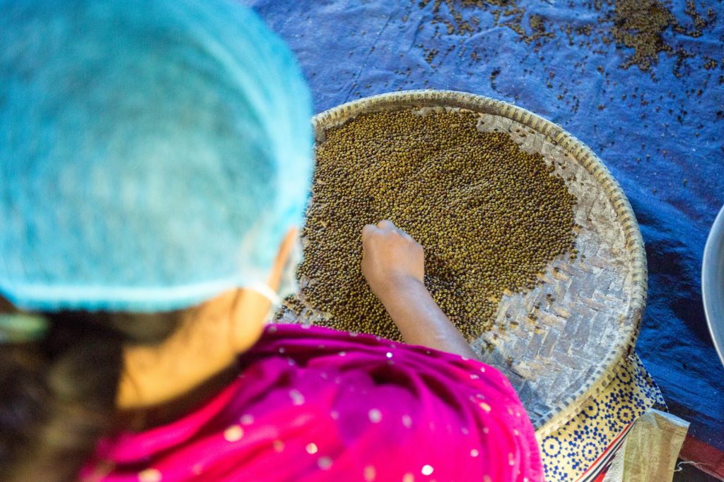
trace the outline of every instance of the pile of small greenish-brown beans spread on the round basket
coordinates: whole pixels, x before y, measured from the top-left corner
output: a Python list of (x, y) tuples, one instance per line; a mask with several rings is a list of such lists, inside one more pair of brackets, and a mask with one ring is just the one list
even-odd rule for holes
[(563, 179), (478, 121), (468, 111), (394, 111), (327, 131), (297, 273), (303, 304), (326, 314), (320, 324), (400, 340), (360, 269), (362, 228), (382, 219), (424, 246), (425, 284), (468, 340), (491, 326), (505, 291), (533, 288), (573, 249), (576, 198)]

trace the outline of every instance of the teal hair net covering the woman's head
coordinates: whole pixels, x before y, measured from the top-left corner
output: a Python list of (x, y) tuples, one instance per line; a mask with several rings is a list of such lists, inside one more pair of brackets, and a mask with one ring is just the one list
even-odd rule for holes
[(0, 291), (164, 311), (264, 282), (308, 195), (292, 54), (219, 0), (0, 0)]

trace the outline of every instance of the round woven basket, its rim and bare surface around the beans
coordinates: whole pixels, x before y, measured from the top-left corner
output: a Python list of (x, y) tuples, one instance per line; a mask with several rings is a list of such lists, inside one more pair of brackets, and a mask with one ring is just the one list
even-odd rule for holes
[(542, 438), (601, 391), (633, 350), (647, 289), (639, 226), (626, 195), (589, 147), (500, 100), (440, 90), (362, 98), (315, 116), (316, 141), (359, 114), (424, 108), (477, 113), (479, 130), (508, 132), (522, 150), (540, 152), (578, 199), (578, 258), (558, 257), (541, 273), (544, 283), (503, 296), (494, 327), (472, 344), (508, 376)]

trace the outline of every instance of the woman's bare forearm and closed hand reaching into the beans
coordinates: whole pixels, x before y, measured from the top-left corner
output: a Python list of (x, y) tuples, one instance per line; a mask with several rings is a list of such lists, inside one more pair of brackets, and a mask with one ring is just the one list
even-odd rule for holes
[(362, 273), (405, 343), (477, 358), (425, 288), (420, 244), (388, 220), (366, 225), (362, 244)]

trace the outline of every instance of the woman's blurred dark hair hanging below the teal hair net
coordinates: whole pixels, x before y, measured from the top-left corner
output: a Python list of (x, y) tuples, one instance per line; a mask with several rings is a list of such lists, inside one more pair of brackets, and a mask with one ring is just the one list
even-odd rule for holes
[(45, 314), (43, 340), (1, 345), (0, 481), (75, 480), (98, 439), (117, 428), (122, 346), (163, 340), (180, 314)]

